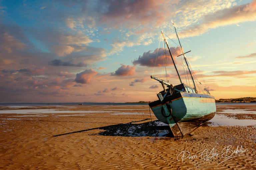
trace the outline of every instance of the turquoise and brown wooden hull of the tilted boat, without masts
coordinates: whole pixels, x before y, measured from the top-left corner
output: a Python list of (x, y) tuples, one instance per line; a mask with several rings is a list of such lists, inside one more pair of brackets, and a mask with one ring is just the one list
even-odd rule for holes
[[(149, 106), (158, 120), (169, 124), (174, 136), (190, 133), (216, 113), (214, 97), (198, 93), (179, 92), (165, 97), (163, 101), (149, 103)], [(170, 113), (166, 113), (166, 108)]]

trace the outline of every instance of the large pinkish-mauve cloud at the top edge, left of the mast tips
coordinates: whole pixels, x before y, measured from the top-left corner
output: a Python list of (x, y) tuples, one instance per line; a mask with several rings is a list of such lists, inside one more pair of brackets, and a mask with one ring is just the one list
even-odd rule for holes
[(115, 28), (121, 25), (160, 25), (174, 14), (173, 10), (167, 8), (166, 3), (168, 2), (164, 0), (107, 1), (102, 4), (106, 12), (100, 16), (100, 23), (110, 24)]

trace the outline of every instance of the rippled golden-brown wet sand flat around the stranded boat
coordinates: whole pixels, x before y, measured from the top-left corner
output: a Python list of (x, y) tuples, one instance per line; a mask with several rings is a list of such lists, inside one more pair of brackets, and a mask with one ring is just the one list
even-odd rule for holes
[(256, 105), (179, 139), (147, 105), (1, 106), (0, 125), (0, 169), (256, 169)]

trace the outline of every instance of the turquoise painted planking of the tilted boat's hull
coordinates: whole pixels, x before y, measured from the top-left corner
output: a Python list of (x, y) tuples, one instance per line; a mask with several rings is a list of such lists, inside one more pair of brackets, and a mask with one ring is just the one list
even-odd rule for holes
[[(176, 122), (188, 121), (196, 118), (201, 118), (208, 114), (216, 112), (216, 105), (214, 98), (196, 98), (196, 97), (184, 97), (185, 92), (181, 92), (182, 98), (173, 100), (170, 103), (172, 109), (172, 116)], [(190, 94), (191, 96), (192, 94)], [(167, 123), (166, 118), (162, 115), (162, 105), (151, 108), (156, 118), (164, 123)], [(168, 124), (168, 123), (167, 123)]]

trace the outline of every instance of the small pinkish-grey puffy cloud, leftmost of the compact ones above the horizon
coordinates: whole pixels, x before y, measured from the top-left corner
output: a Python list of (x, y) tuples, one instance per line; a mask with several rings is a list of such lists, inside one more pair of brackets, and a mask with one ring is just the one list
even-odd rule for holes
[(89, 84), (92, 81), (92, 78), (97, 75), (97, 71), (93, 69), (87, 69), (81, 73), (76, 74), (75, 82), (81, 84)]

